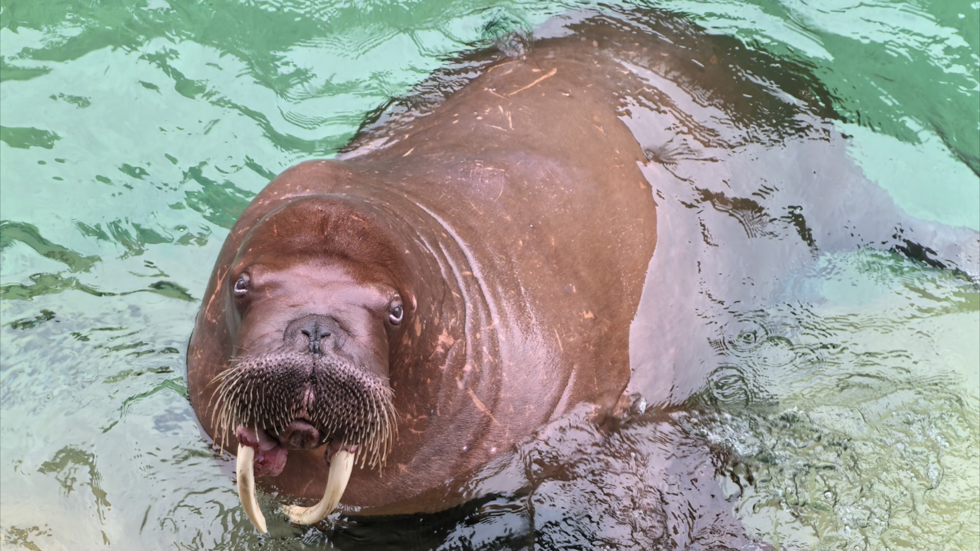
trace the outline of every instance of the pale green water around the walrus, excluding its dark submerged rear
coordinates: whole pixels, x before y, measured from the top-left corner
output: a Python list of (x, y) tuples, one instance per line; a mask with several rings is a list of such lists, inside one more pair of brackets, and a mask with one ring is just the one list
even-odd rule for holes
[[(914, 218), (980, 229), (980, 4), (652, 5), (805, 68), (864, 175)], [(357, 520), (253, 532), (185, 397), (198, 301), (272, 176), (335, 154), (495, 32), (583, 6), (0, 0), (0, 545), (382, 546), (366, 534), (391, 526)], [(975, 263), (822, 253), (728, 313), (729, 344), (704, 346), (724, 366), (692, 398), (708, 413), (677, 423), (746, 459), (719, 479), (752, 479), (736, 515), (754, 534), (785, 549), (980, 545)], [(527, 507), (504, 496), (383, 545), (596, 541), (537, 524), (540, 505), (527, 525)], [(508, 539), (520, 530), (530, 539)]]

